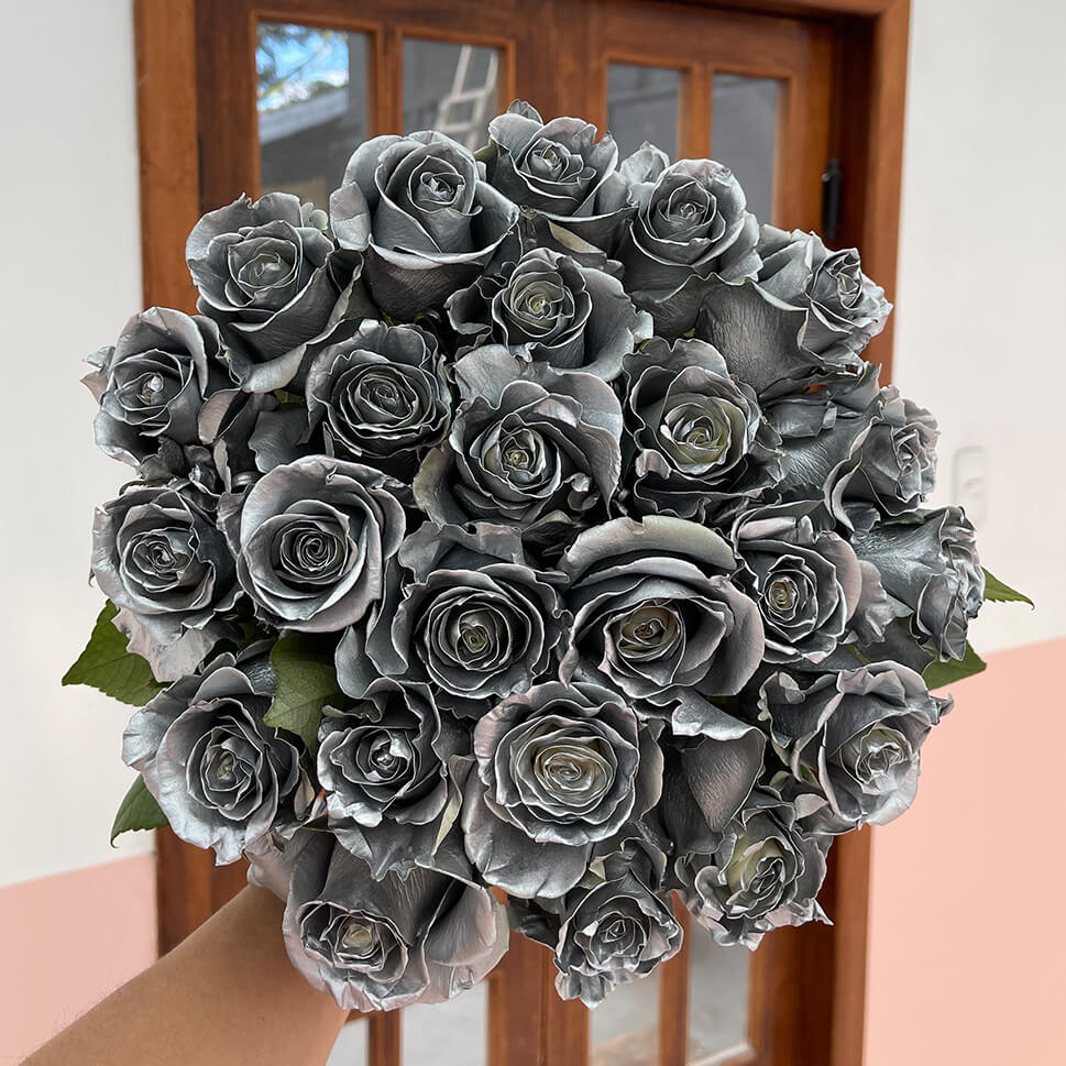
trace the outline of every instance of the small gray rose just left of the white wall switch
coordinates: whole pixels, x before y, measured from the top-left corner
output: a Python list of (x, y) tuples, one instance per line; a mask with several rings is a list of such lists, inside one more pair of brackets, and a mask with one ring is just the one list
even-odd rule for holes
[(900, 396), (894, 385), (881, 389), (880, 413), (844, 491), (853, 523), (870, 526), (878, 512), (895, 517), (925, 501), (936, 480), (938, 436), (927, 410)]

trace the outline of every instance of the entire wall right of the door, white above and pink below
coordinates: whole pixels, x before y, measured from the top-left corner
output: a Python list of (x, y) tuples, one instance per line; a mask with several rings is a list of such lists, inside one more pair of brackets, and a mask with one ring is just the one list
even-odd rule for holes
[(1052, 899), (1066, 870), (1066, 4), (912, 2), (895, 376), (941, 420), (939, 499), (985, 449), (981, 556), (1037, 609), (986, 606), (974, 644), (999, 653), (873, 829), (864, 1062), (1036, 1066), (1066, 1041), (1062, 908), (1021, 903), (1030, 864)]

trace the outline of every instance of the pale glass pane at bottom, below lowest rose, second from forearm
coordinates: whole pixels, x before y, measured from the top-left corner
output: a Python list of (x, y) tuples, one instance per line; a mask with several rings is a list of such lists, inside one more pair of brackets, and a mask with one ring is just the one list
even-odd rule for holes
[(488, 985), (482, 981), (444, 1003), (403, 1013), (404, 1066), (485, 1066), (488, 1059)]

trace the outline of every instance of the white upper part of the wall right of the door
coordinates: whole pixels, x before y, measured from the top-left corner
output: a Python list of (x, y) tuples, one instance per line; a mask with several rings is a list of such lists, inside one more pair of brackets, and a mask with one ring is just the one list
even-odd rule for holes
[(981, 559), (1037, 603), (987, 606), (982, 651), (1066, 635), (1064, 44), (1062, 0), (912, 3), (894, 378), (939, 419), (937, 502), (983, 449)]

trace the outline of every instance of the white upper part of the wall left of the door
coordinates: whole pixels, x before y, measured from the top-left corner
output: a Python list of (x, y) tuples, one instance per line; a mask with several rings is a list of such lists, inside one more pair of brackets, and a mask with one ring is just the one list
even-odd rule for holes
[(2, 886), (117, 857), (129, 708), (59, 678), (102, 604), (92, 508), (128, 480), (92, 447), (80, 359), (140, 308), (141, 257), (131, 0), (0, 7)]

